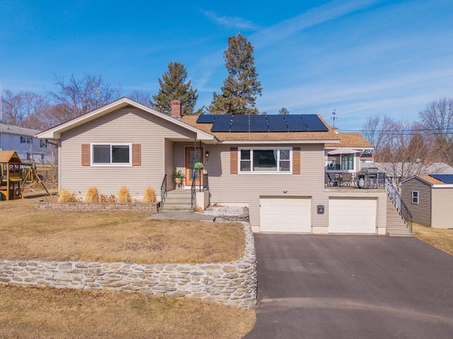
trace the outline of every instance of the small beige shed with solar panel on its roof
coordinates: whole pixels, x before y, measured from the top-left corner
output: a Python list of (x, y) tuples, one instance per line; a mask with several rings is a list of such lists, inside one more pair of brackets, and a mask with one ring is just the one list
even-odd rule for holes
[(401, 182), (401, 197), (413, 222), (453, 228), (453, 174), (419, 174)]

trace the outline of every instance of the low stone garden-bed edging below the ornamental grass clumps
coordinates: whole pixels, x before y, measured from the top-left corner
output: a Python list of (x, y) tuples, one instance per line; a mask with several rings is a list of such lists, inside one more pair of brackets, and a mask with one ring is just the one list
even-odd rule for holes
[(35, 202), (38, 210), (139, 210), (157, 213), (157, 203), (52, 203)]

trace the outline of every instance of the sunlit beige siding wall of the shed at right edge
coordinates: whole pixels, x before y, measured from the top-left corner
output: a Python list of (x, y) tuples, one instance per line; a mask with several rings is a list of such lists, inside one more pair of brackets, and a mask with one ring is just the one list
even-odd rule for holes
[(431, 226), (453, 228), (453, 189), (432, 188)]

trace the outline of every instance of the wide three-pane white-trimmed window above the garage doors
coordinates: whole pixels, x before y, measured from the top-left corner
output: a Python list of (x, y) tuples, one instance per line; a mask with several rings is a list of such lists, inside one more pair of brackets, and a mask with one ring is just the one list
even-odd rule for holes
[(291, 173), (291, 148), (239, 148), (239, 173)]

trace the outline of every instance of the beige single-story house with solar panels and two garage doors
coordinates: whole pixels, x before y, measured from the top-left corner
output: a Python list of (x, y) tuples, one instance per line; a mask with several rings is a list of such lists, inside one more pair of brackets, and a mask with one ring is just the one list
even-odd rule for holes
[(59, 187), (79, 196), (90, 186), (159, 195), (164, 181), (175, 189), (176, 169), (190, 189), (202, 162), (210, 202), (248, 206), (256, 232), (386, 232), (384, 190), (326, 188), (325, 145), (340, 138), (315, 114), (181, 117), (177, 100), (166, 115), (122, 97), (38, 137), (59, 144)]

